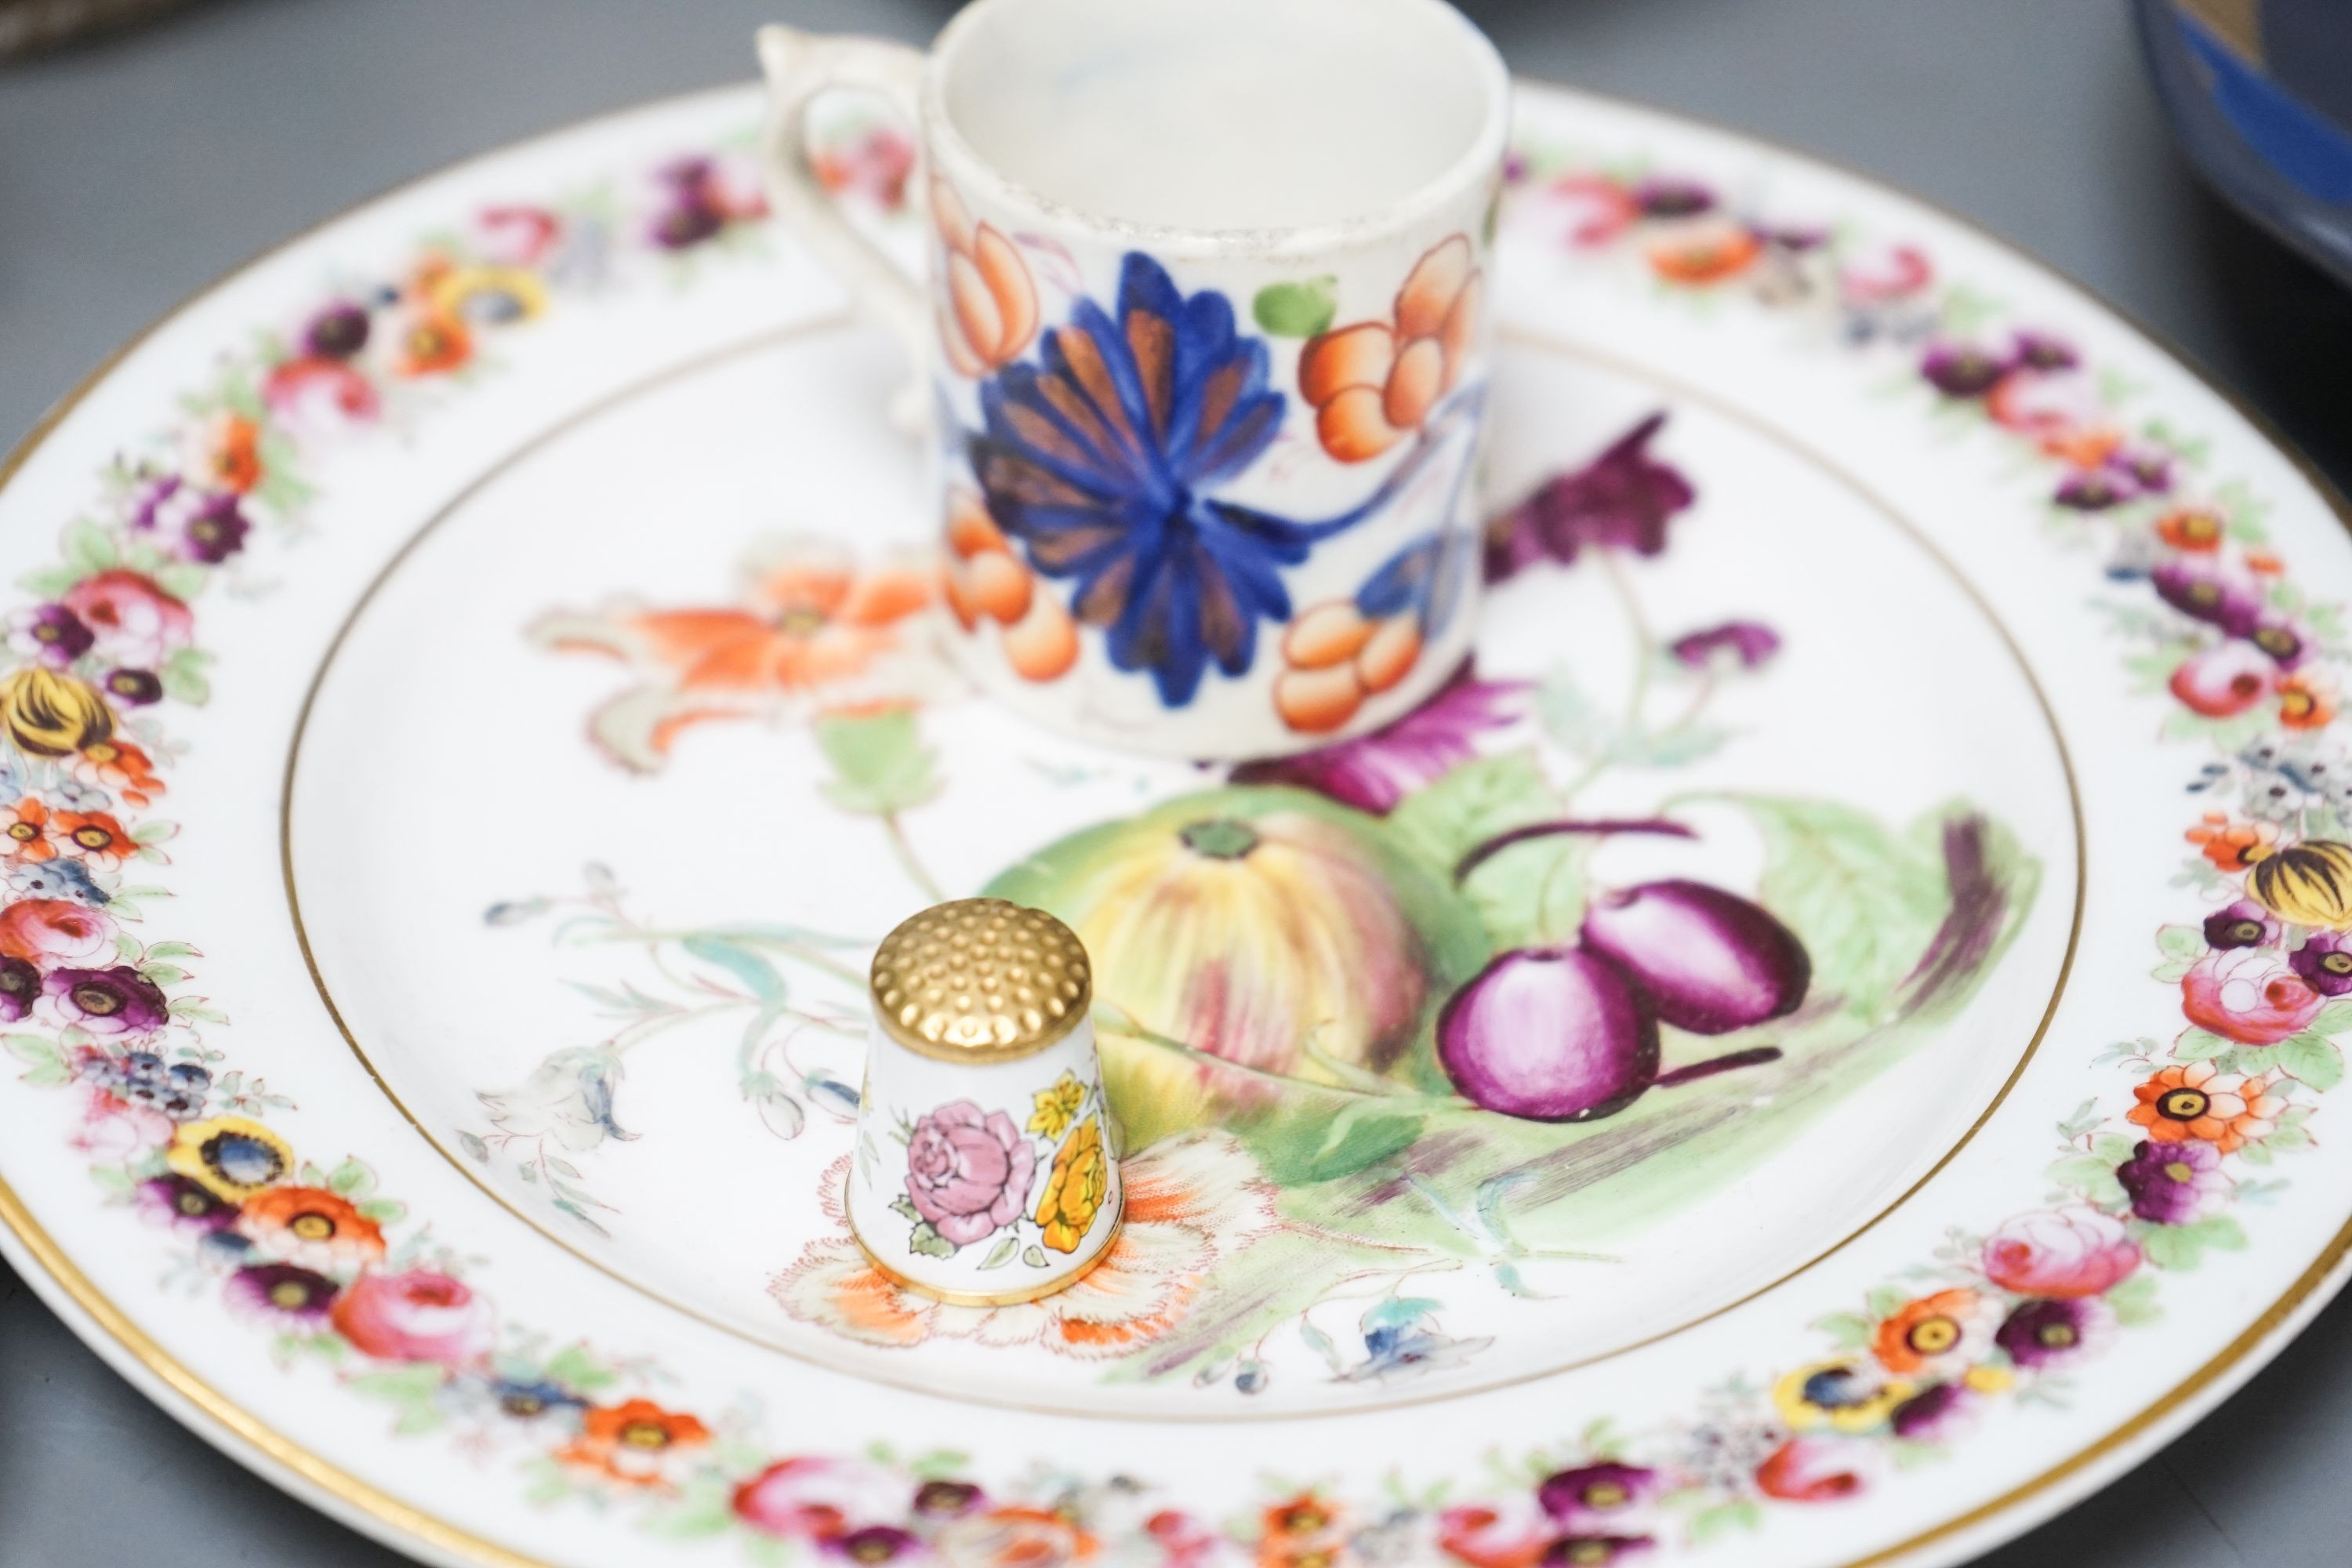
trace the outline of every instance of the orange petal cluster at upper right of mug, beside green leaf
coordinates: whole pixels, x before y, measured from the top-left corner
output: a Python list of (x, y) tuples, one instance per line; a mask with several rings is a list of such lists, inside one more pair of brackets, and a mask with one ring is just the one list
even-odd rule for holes
[(1484, 282), (1465, 235), (1432, 244), (1397, 289), (1392, 317), (1308, 339), (1298, 395), (1341, 463), (1376, 458), (1421, 428), (1477, 346)]

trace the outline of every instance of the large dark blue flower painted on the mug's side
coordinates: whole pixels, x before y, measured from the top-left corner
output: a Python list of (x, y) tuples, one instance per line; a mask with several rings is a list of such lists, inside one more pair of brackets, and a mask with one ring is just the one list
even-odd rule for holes
[(1183, 708), (1211, 658), (1242, 675), (1258, 623), (1289, 618), (1279, 567), (1364, 512), (1308, 524), (1214, 498), (1275, 440), (1284, 400), (1225, 296), (1185, 296), (1150, 256), (1122, 263), (1115, 315), (1077, 301), (1037, 355), (981, 386), (969, 451), (988, 512), (1073, 583), (1110, 663)]

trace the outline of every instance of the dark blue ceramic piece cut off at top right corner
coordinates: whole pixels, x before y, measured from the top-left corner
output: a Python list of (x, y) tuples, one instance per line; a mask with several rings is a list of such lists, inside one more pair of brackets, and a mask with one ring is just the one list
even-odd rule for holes
[(2352, 2), (2140, 0), (2140, 40), (2199, 172), (2352, 282)]

